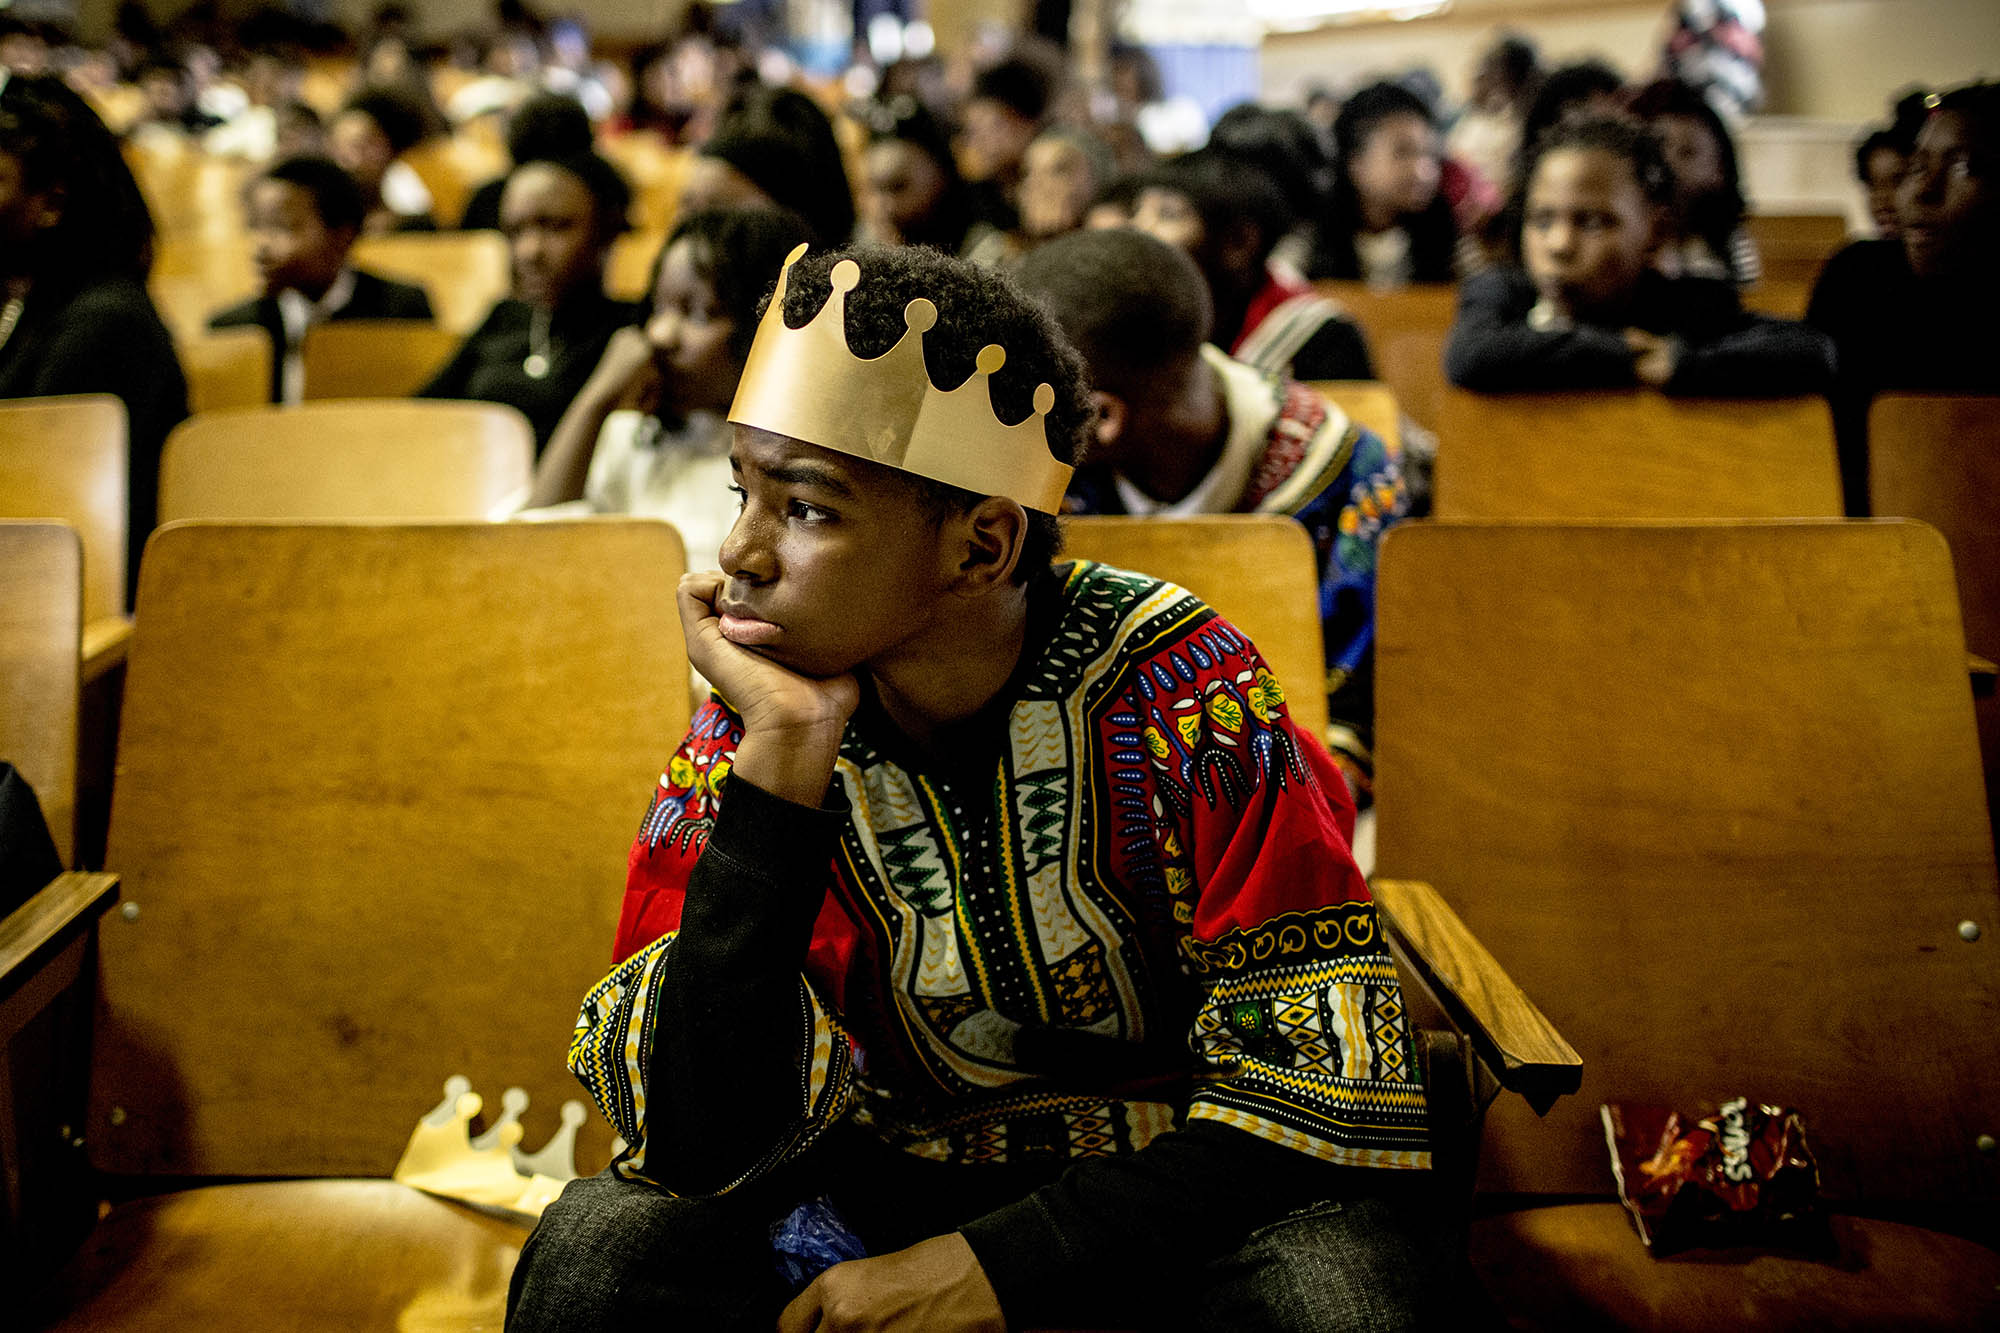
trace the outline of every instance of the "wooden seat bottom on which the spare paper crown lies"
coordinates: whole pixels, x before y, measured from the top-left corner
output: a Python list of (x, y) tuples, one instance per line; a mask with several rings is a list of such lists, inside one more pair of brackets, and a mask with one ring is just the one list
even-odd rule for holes
[(500, 1329), (528, 1229), (394, 1181), (124, 1203), (56, 1277), (50, 1329)]

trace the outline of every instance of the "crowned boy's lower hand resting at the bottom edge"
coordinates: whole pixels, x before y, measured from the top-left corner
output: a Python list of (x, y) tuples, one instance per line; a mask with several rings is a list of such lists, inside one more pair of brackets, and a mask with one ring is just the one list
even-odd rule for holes
[(836, 1263), (778, 1315), (778, 1333), (1006, 1333), (1000, 1297), (952, 1231)]

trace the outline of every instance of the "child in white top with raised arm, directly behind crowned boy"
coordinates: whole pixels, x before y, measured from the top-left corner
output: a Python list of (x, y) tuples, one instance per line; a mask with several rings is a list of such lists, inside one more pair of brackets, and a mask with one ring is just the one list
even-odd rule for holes
[(712, 208), (674, 224), (646, 322), (604, 346), (534, 468), (528, 504), (666, 518), (688, 568), (714, 568), (736, 522), (722, 414), (764, 288), (806, 240), (806, 222), (778, 208)]

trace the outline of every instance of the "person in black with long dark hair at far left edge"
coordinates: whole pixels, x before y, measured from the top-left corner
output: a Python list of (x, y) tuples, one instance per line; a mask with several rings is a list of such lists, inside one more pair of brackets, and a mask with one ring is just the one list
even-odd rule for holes
[(160, 446), (188, 416), (174, 340), (146, 294), (152, 240), (96, 112), (56, 76), (0, 84), (0, 398), (124, 402), (128, 596), (158, 512)]

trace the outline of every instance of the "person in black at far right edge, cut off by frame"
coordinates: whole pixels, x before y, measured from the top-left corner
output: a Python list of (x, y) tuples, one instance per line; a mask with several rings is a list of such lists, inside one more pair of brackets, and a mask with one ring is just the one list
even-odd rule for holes
[(1868, 402), (2000, 394), (2000, 84), (1938, 96), (1896, 190), (1900, 236), (1826, 260), (1806, 320), (1840, 348), (1834, 430), (1848, 512), (1868, 512)]

